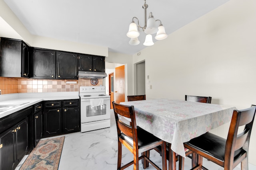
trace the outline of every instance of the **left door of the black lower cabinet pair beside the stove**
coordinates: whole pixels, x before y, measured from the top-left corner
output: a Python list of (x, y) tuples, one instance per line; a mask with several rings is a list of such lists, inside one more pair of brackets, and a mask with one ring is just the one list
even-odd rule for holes
[(50, 137), (62, 133), (61, 108), (45, 109), (43, 136)]

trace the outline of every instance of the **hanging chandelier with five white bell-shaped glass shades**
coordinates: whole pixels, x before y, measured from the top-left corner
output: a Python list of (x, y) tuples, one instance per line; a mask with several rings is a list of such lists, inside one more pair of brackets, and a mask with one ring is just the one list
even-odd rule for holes
[[(148, 17), (148, 23), (147, 23), (147, 8), (148, 4), (146, 4), (146, 0), (144, 0), (145, 3), (142, 6), (144, 9), (144, 26), (140, 26), (139, 20), (137, 17), (132, 18), (132, 23), (129, 25), (129, 31), (126, 34), (127, 37), (131, 38), (129, 41), (130, 45), (138, 45), (140, 43), (138, 36), (140, 35), (139, 31), (144, 31), (146, 33), (146, 39), (143, 45), (150, 46), (154, 45), (154, 42), (152, 40), (152, 34), (156, 33), (155, 39), (156, 40), (162, 40), (165, 39), (168, 35), (165, 33), (164, 26), (162, 25), (162, 22), (160, 20), (155, 20), (154, 16), (152, 15), (152, 12), (150, 12)], [(137, 20), (138, 23), (134, 22), (134, 19)], [(158, 26), (158, 23), (160, 25)]]

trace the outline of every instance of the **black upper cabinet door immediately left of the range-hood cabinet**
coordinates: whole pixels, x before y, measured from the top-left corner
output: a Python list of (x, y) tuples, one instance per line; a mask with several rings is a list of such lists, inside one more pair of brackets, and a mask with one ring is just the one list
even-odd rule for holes
[(78, 79), (78, 55), (75, 53), (56, 52), (57, 79)]

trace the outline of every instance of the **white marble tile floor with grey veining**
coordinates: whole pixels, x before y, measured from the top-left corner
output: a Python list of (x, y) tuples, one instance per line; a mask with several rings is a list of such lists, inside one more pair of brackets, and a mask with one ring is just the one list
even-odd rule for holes
[[(26, 157), (27, 156), (22, 159), (21, 163), (15, 170), (20, 168)], [(162, 159), (158, 152), (155, 150), (150, 151), (150, 158), (159, 167), (162, 167)], [(122, 162), (127, 163), (132, 159), (132, 153), (123, 147)], [(58, 168), (59, 170), (116, 170), (116, 164), (117, 136), (113, 110), (111, 110), (111, 126), (109, 128), (65, 135), (64, 146)], [(222, 167), (208, 160), (204, 160), (204, 166), (208, 167), (209, 170), (223, 170)], [(189, 170), (190, 168), (191, 160), (190, 158), (186, 158), (184, 169)], [(126, 168), (126, 170), (132, 169), (133, 166)], [(143, 170), (141, 161), (140, 170)], [(155, 168), (150, 165), (147, 170), (155, 170)], [(235, 168), (234, 170), (240, 169)]]

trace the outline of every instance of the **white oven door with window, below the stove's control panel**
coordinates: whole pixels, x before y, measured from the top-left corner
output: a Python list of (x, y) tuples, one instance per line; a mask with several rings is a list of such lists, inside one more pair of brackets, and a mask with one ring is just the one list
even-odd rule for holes
[(91, 99), (81, 99), (81, 123), (105, 119), (110, 119), (110, 98), (103, 98), (100, 106), (91, 106)]

